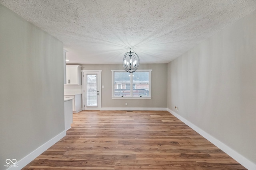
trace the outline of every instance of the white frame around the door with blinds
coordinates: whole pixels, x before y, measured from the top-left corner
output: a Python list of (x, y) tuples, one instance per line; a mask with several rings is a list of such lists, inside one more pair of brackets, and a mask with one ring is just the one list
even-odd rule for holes
[[(97, 87), (97, 90), (99, 91), (99, 101), (98, 102), (98, 109), (100, 110), (102, 107), (101, 107), (101, 72), (102, 70), (82, 70), (82, 109), (85, 110), (85, 102), (84, 101), (84, 73), (90, 73), (90, 72), (97, 72), (98, 75), (99, 75), (99, 82), (98, 82), (98, 87)], [(94, 110), (94, 107), (92, 107), (92, 110)]]

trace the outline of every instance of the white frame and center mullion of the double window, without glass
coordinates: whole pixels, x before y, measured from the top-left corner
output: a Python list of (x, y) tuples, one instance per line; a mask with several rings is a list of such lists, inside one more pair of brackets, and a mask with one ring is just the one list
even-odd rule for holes
[[(151, 99), (151, 72), (152, 70), (136, 70), (136, 72), (148, 72), (149, 73), (149, 88), (148, 88), (148, 96), (129, 96), (129, 97), (125, 97), (125, 96), (114, 96), (114, 72), (126, 72), (125, 70), (111, 70), (112, 72), (112, 99)], [(132, 87), (132, 73), (131, 74), (131, 79), (130, 79), (130, 87)], [(132, 92), (132, 89), (130, 89)]]

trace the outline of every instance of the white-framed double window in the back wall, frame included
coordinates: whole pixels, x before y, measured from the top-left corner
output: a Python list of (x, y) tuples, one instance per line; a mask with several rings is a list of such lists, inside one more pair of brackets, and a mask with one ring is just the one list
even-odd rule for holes
[(151, 71), (112, 71), (112, 98), (151, 98)]

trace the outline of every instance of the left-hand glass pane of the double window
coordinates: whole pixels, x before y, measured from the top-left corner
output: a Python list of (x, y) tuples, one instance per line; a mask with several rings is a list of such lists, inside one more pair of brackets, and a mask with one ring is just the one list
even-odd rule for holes
[(130, 84), (130, 73), (114, 72), (114, 96), (131, 96)]

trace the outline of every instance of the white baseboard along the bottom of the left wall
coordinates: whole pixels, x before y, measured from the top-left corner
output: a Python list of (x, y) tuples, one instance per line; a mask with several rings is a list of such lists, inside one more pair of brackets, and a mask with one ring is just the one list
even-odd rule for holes
[(27, 156), (25, 156), (24, 158), (19, 160), (15, 164), (16, 166), (18, 165), (18, 167), (12, 166), (12, 167), (8, 168), (7, 170), (20, 170), (20, 169), (24, 168), (27, 164), (29, 164), (32, 160), (34, 160), (37, 156), (42, 154), (42, 152), (44, 152), (45, 150), (50, 148), (52, 145), (54, 145), (56, 142), (58, 142), (64, 136), (66, 136), (66, 131), (59, 133), (58, 135), (56, 135), (55, 137), (53, 137), (52, 139), (50, 139), (49, 141), (47, 141), (46, 143), (41, 145), (38, 149), (34, 150), (30, 154), (28, 154)]

